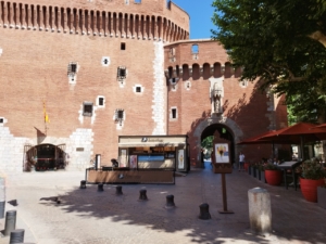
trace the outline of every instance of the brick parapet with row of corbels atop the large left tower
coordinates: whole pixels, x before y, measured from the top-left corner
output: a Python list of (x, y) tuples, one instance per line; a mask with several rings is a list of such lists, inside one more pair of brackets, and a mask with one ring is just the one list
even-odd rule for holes
[(148, 9), (148, 1), (137, 4), (127, 4), (123, 0), (98, 0), (87, 4), (82, 1), (55, 1), (57, 5), (48, 5), (45, 0), (34, 1), (34, 4), (2, 1), (0, 26), (167, 42), (187, 39), (187, 13), (180, 9), (161, 8), (162, 2), (163, 0), (158, 4), (152, 3), (151, 11)]

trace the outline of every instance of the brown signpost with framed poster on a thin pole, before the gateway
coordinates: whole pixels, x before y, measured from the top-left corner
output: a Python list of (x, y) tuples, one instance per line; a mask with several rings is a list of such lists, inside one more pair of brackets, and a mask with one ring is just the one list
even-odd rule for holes
[(230, 143), (228, 140), (220, 137), (218, 131), (214, 133), (213, 140), (213, 168), (215, 174), (222, 175), (222, 194), (223, 194), (223, 210), (220, 214), (234, 214), (234, 211), (227, 209), (226, 200), (226, 183), (225, 174), (233, 172), (233, 165), (229, 155)]

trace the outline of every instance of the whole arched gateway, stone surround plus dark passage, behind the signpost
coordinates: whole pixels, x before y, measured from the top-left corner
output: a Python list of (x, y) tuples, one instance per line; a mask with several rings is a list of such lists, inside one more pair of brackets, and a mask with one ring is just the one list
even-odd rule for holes
[[(196, 149), (190, 152), (190, 157), (196, 158), (196, 166), (202, 167), (201, 164), (201, 141), (209, 136), (213, 136), (215, 131), (218, 131), (222, 138), (230, 141), (230, 158), (235, 163), (237, 160), (236, 144), (240, 141), (239, 138), (243, 136), (239, 126), (230, 118), (213, 115), (212, 117), (202, 120), (193, 131), (193, 141), (196, 142)], [(193, 164), (193, 162), (191, 162)]]

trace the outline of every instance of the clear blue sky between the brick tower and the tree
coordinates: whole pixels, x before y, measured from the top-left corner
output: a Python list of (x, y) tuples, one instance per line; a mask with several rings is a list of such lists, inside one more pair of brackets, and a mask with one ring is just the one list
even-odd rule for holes
[(190, 15), (190, 38), (211, 38), (211, 29), (216, 29), (211, 17), (213, 0), (172, 0)]

